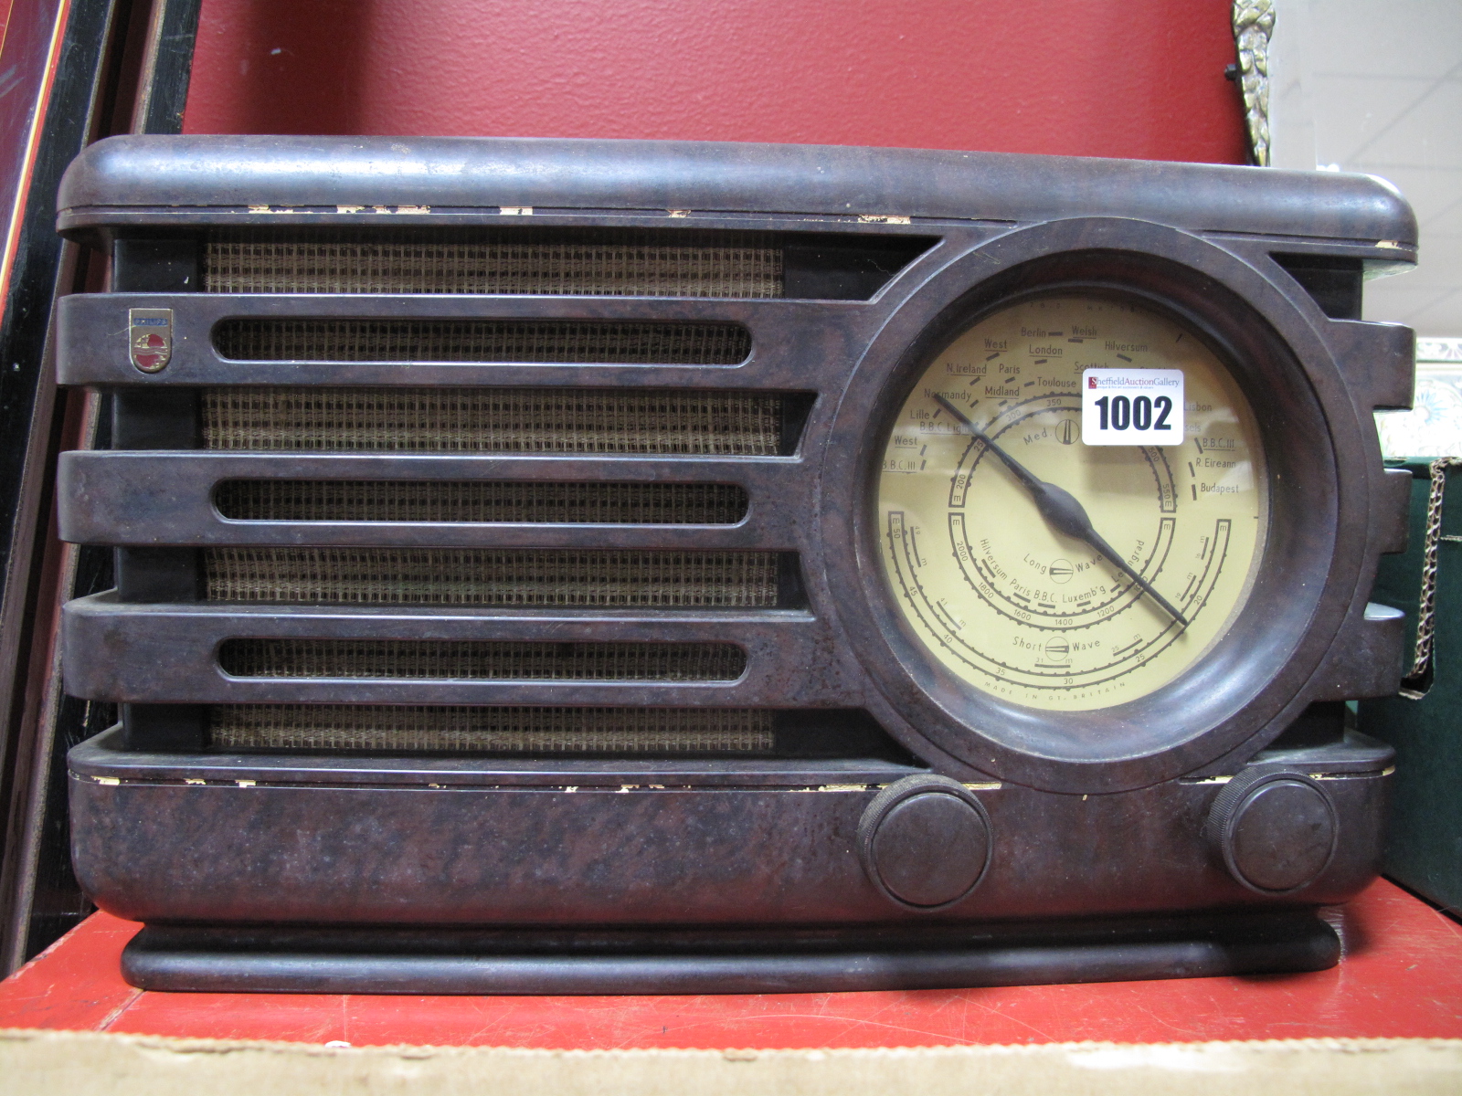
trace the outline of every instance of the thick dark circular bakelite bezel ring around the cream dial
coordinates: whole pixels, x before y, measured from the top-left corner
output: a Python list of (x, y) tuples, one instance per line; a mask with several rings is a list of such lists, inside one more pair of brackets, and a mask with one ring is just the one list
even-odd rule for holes
[[(1107, 243), (1110, 241), (1110, 243)], [(1107, 246), (1102, 246), (1107, 243)], [(1244, 608), (1174, 681), (1137, 700), (1048, 712), (971, 688), (933, 659), (893, 604), (877, 522), (880, 460), (893, 416), (933, 358), (982, 316), (1026, 295), (1113, 294), (1202, 338), (1259, 422), (1270, 525)], [(1347, 419), (1344, 414), (1349, 412)], [(1120, 791), (1193, 772), (1282, 726), (1351, 605), (1364, 538), (1338, 538), (1368, 509), (1344, 380), (1310, 320), (1272, 281), (1178, 229), (1082, 218), (1020, 229), (950, 262), (889, 317), (839, 403), (823, 472), (826, 582), (879, 688), (874, 715), (918, 753), (1048, 791)], [(1357, 475), (1358, 472), (1358, 475)], [(1360, 479), (1360, 482), (1357, 482)], [(1358, 542), (1357, 542), (1358, 541)], [(845, 601), (844, 601), (845, 599)], [(1276, 731), (1275, 731), (1276, 734)]]

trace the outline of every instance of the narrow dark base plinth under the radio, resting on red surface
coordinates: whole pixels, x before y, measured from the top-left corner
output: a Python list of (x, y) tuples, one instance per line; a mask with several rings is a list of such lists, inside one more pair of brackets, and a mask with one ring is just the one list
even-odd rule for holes
[(149, 925), (123, 975), (174, 992), (788, 994), (1291, 973), (1339, 956), (1303, 910), (781, 934)]

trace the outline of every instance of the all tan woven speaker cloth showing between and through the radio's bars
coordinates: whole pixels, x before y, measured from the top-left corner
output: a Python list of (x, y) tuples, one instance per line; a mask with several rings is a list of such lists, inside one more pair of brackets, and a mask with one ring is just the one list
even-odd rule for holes
[[(216, 229), (202, 288), (215, 294), (532, 294), (769, 298), (784, 294), (775, 237), (608, 229)], [(230, 319), (235, 361), (735, 365), (731, 323), (601, 320)], [(636, 389), (287, 389), (202, 393), (212, 450), (642, 453), (775, 456), (775, 395)], [(235, 520), (730, 525), (728, 484), (232, 481)], [(778, 604), (776, 552), (611, 549), (203, 549), (224, 602), (754, 608)], [(238, 677), (734, 681), (730, 643), (231, 640)], [(209, 709), (215, 748), (528, 754), (768, 753), (753, 709), (234, 704)]]

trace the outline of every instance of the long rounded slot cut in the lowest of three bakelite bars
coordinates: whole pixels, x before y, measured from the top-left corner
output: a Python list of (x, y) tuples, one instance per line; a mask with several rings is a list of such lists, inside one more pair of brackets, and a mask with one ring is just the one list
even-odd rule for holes
[(218, 653), (241, 678), (427, 681), (735, 681), (731, 643), (516, 643), (493, 640), (228, 640)]

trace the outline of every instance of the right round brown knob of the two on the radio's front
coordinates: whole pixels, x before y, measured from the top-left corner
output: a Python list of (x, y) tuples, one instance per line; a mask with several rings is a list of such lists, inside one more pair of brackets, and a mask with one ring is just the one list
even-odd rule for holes
[(1230, 874), (1260, 894), (1314, 883), (1335, 856), (1335, 805), (1301, 773), (1235, 776), (1213, 799), (1205, 833)]

